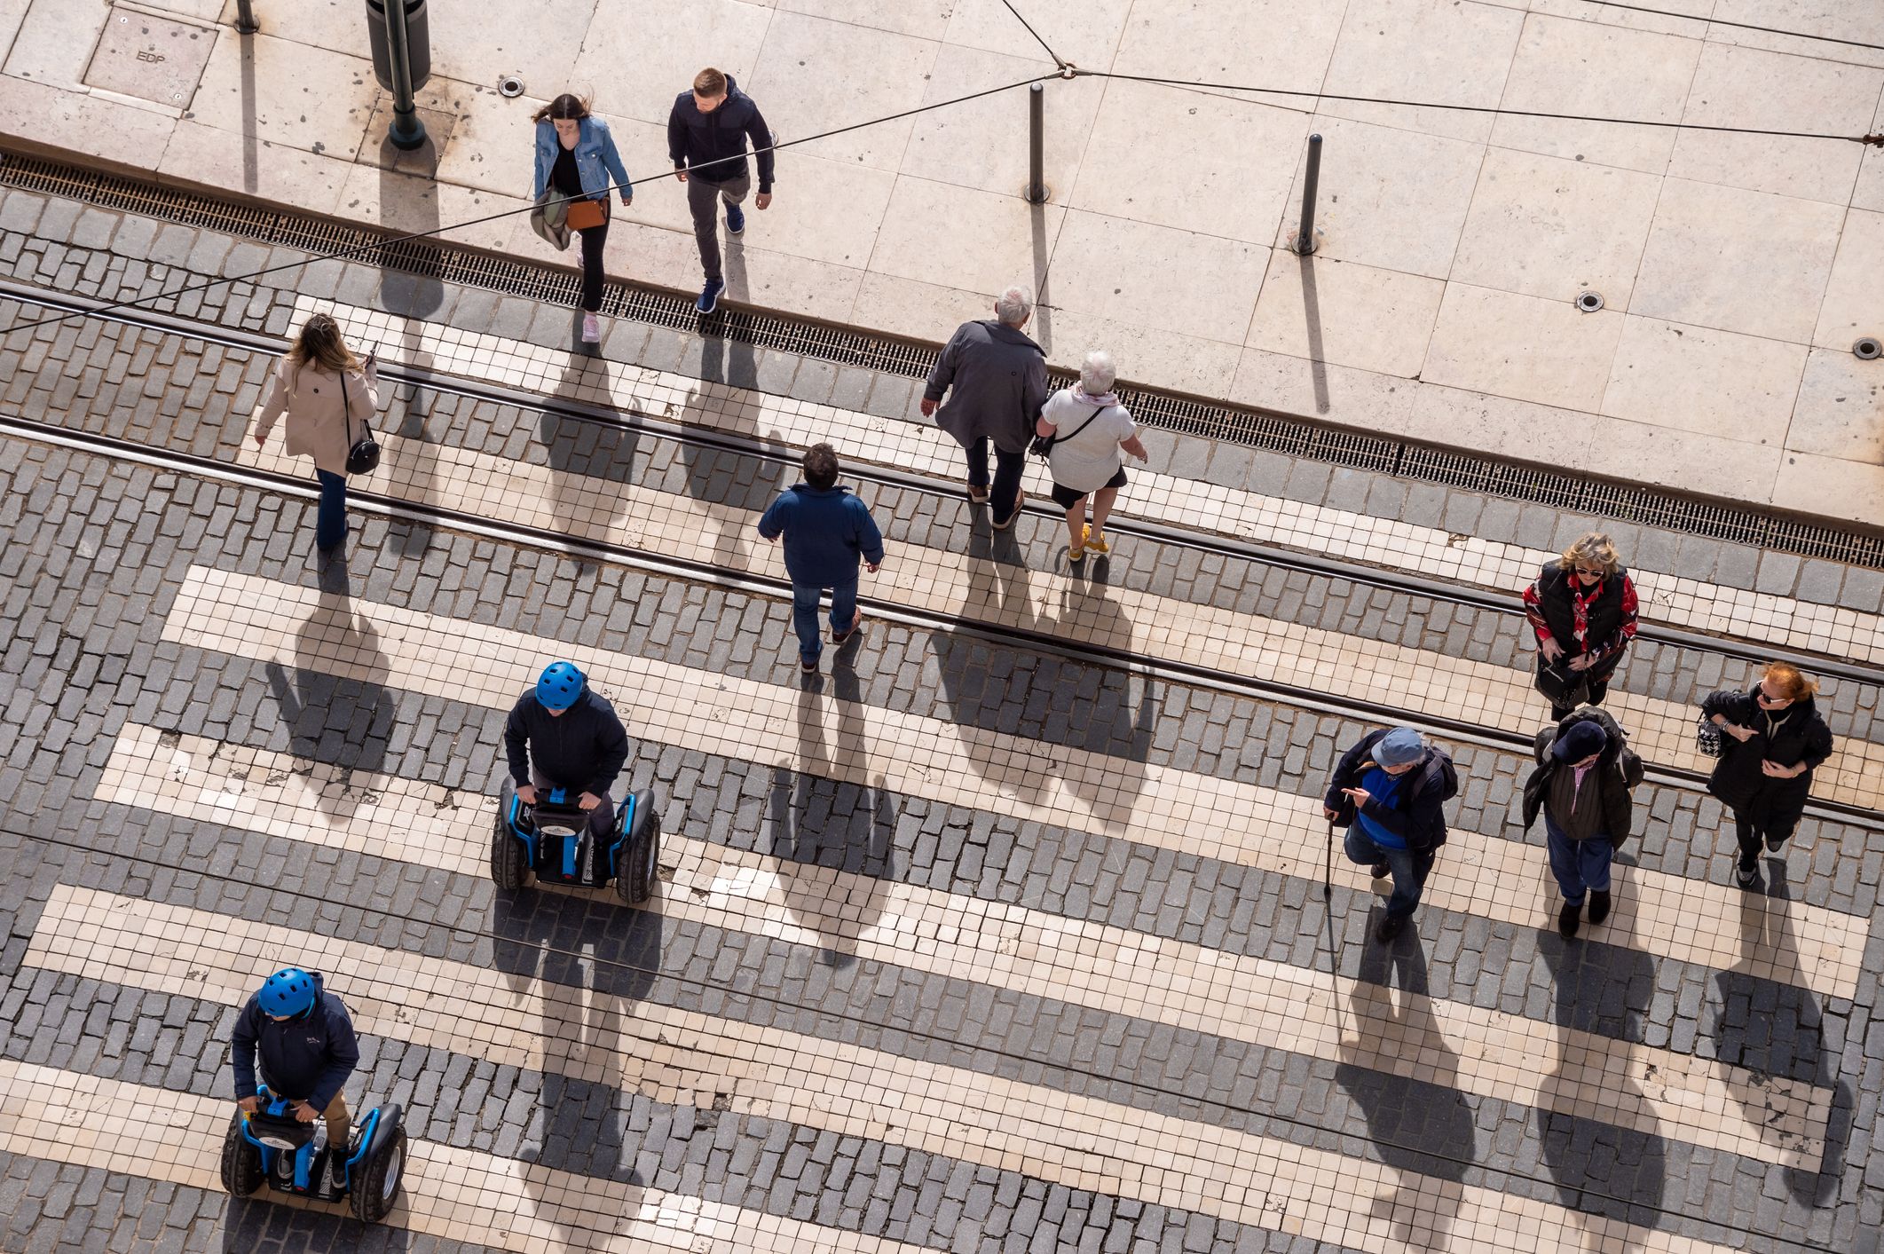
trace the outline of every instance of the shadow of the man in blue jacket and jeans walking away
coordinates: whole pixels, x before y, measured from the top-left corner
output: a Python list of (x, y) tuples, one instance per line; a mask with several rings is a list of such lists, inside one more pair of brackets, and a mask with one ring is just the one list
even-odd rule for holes
[[(878, 774), (872, 787), (833, 780), (840, 759), (869, 759), (855, 670), (861, 642), (863, 635), (853, 635), (836, 650), (825, 650), (829, 685), (820, 676), (801, 678), (797, 770), (772, 768), (769, 813), (769, 847), (780, 860), (786, 909), (799, 926), (820, 934), (820, 957), (836, 968), (855, 962), (857, 936), (882, 919), (897, 874), (899, 813), (885, 778)], [(853, 877), (855, 889), (840, 896), (833, 872)]]

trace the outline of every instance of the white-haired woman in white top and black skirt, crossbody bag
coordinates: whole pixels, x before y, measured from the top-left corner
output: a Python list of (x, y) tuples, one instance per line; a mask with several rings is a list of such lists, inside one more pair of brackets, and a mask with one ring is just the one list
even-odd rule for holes
[[(1048, 471), (1053, 474), (1053, 501), (1066, 510), (1066, 561), (1085, 561), (1089, 552), (1112, 552), (1106, 516), (1119, 499), (1119, 488), (1125, 488), (1123, 454), (1145, 459), (1138, 424), (1112, 394), (1117, 377), (1112, 354), (1085, 354), (1080, 386), (1048, 397), (1034, 426), (1038, 435), (1053, 437)], [(1085, 522), (1087, 497), (1093, 497), (1091, 525)]]

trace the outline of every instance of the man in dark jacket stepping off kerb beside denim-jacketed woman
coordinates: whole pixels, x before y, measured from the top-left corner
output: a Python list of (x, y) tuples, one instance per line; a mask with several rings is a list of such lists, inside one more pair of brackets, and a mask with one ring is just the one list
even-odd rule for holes
[(693, 75), (693, 90), (680, 92), (667, 115), (667, 156), (674, 162), (674, 177), (688, 185), (688, 209), (693, 213), (693, 241), (701, 250), (701, 269), (706, 282), (693, 307), (710, 314), (725, 292), (725, 269), (720, 264), (720, 205), (725, 203), (725, 232), (746, 230), (746, 211), (739, 201), (752, 190), (746, 169), (746, 139), (759, 158), (757, 209), (772, 203), (772, 130), (759, 115), (752, 96), (739, 90), (729, 73), (708, 66)]

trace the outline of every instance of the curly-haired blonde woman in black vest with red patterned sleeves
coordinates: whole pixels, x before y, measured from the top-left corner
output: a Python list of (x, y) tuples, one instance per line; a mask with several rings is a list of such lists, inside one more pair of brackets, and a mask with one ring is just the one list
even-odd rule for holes
[(1547, 561), (1524, 589), (1524, 616), (1537, 633), (1537, 691), (1551, 702), (1551, 721), (1583, 702), (1603, 704), (1635, 638), (1635, 584), (1615, 540), (1592, 531)]

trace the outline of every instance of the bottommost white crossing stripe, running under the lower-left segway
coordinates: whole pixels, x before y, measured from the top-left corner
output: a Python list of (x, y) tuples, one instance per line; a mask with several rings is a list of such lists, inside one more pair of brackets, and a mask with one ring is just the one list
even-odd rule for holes
[[(222, 1192), (222, 1133), (236, 1105), (0, 1058), (0, 1149), (49, 1162)], [(281, 1205), (347, 1213), (262, 1190)], [(407, 1141), (405, 1196), (388, 1226), (499, 1250), (771, 1250), (934, 1254), (684, 1194), (599, 1181), (437, 1141)]]

